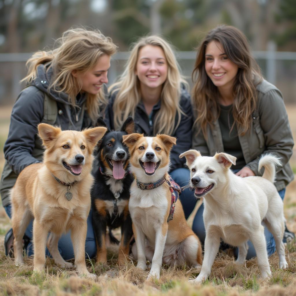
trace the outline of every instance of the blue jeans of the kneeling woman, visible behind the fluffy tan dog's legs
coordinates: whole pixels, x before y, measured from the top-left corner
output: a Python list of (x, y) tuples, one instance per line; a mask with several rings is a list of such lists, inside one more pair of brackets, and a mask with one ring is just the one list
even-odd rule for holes
[[(11, 205), (4, 207), (7, 215), (11, 218)], [(33, 220), (30, 221), (25, 234), (30, 238), (30, 242), (27, 247), (28, 256), (33, 255)], [(70, 231), (66, 234), (63, 234), (59, 239), (58, 243), (59, 252), (65, 260), (69, 260), (74, 258), (74, 251), (70, 236)], [(86, 233), (86, 242), (85, 242), (85, 257), (94, 258), (96, 256), (96, 240), (94, 237), (94, 231), (92, 227), (92, 209), (89, 212), (89, 216), (87, 218), (87, 233)], [(49, 251), (46, 248), (46, 256), (50, 256)]]

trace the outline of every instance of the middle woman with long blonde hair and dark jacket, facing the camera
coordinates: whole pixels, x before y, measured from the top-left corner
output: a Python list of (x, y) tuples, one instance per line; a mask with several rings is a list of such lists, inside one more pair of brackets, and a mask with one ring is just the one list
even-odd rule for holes
[(188, 183), (189, 175), (179, 155), (191, 147), (192, 129), (192, 107), (185, 86), (168, 42), (159, 36), (142, 37), (133, 45), (119, 81), (109, 88), (106, 112), (112, 129), (118, 130), (131, 115), (138, 133), (176, 137), (170, 169), (181, 186)]

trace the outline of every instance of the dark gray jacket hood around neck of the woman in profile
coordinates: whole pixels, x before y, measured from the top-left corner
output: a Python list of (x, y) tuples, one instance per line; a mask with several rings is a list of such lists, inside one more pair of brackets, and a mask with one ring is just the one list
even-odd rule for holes
[[(72, 105), (68, 101), (68, 95), (65, 92), (57, 92), (54, 91), (52, 88), (49, 88), (52, 76), (53, 76), (53, 70), (52, 67), (50, 67), (50, 63), (47, 64), (41, 64), (37, 66), (37, 76), (32, 82), (32, 85), (36, 86), (41, 91), (49, 94), (49, 96), (56, 100), (57, 102), (61, 102), (63, 104)], [(82, 95), (79, 97), (78, 104), (81, 106), (86, 99), (85, 95)]]

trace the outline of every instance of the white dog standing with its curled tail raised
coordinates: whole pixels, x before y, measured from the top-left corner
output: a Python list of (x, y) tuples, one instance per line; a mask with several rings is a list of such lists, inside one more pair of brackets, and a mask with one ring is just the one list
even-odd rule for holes
[(200, 274), (194, 282), (202, 282), (211, 272), (219, 249), (220, 239), (239, 247), (237, 263), (244, 263), (248, 240), (253, 243), (258, 258), (261, 276), (271, 274), (264, 228), (264, 221), (276, 242), (279, 268), (287, 268), (284, 235), (283, 202), (273, 182), (275, 166), (281, 165), (278, 158), (264, 155), (259, 161), (262, 177), (241, 178), (229, 168), (235, 165), (236, 157), (216, 153), (214, 157), (201, 156), (197, 150), (180, 155), (186, 157), (191, 175), (191, 186), (196, 197), (204, 197), (203, 219), (205, 223), (205, 256)]

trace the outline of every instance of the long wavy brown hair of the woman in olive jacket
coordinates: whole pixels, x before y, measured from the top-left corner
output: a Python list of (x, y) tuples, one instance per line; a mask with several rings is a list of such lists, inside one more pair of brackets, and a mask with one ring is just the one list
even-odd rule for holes
[(218, 88), (205, 72), (205, 51), (211, 41), (219, 42), (227, 57), (239, 67), (233, 86), (234, 123), (231, 130), (237, 124), (238, 133), (243, 135), (250, 127), (257, 103), (256, 85), (262, 81), (262, 76), (251, 56), (246, 36), (232, 26), (221, 25), (211, 30), (197, 52), (192, 73), (192, 80), (196, 79), (192, 89), (193, 112), (196, 116), (194, 125), (200, 126), (207, 138), (207, 126), (212, 126), (220, 115)]

